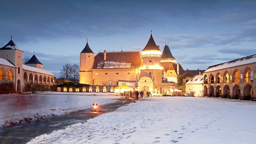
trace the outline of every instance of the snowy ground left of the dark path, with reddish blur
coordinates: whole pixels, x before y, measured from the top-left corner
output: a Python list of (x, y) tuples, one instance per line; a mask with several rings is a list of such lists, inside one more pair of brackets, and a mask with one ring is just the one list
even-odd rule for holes
[(101, 105), (124, 97), (113, 93), (41, 92), (26, 95), (0, 95), (0, 127), (8, 127), (37, 119), (91, 108), (93, 102)]

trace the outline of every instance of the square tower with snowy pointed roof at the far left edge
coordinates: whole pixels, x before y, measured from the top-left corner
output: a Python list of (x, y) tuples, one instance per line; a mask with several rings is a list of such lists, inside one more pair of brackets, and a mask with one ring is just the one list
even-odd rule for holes
[(8, 71), (8, 79), (13, 80), (15, 84), (15, 89), (18, 93), (22, 93), (23, 86), (23, 67), (22, 67), (22, 58), (23, 51), (20, 50), (13, 42), (12, 37), (11, 40), (0, 49), (0, 57), (3, 59), (7, 59), (10, 61), (15, 67), (15, 72)]

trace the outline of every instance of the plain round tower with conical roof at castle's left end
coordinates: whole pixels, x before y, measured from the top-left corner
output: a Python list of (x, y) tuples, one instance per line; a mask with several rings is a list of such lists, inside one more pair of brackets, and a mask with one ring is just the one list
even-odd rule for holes
[(79, 83), (93, 85), (92, 67), (94, 62), (94, 53), (90, 49), (88, 41), (85, 48), (80, 53), (80, 72)]

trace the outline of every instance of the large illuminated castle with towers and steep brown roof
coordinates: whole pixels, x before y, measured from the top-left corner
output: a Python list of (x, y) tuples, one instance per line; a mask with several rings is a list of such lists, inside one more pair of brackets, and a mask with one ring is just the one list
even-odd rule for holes
[(152, 34), (142, 51), (104, 50), (94, 56), (87, 41), (80, 53), (79, 83), (82, 84), (103, 87), (126, 84), (142, 91), (168, 91), (177, 85), (178, 76), (184, 72), (168, 45), (162, 53)]

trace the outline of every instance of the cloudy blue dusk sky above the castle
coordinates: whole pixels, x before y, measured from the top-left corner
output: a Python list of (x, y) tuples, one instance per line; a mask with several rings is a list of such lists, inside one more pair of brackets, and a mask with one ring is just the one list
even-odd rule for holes
[(184, 70), (206, 70), (256, 54), (256, 1), (0, 0), (0, 47), (12, 35), (57, 78), (64, 64), (79, 66), (87, 39), (95, 55), (141, 51), (151, 30)]

